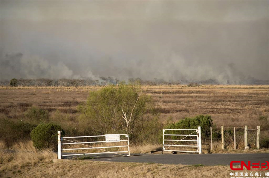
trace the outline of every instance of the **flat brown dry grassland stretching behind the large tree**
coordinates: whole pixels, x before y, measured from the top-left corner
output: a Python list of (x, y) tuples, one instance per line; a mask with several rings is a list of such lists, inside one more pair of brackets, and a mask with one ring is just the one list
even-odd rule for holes
[[(54, 115), (56, 110), (75, 121), (77, 107), (85, 103), (89, 91), (100, 87), (20, 87), (0, 89), (1, 117), (23, 119), (24, 112), (40, 107)], [(210, 114), (217, 126), (256, 127), (260, 116), (269, 115), (268, 85), (186, 85), (143, 86), (151, 95), (161, 121)]]

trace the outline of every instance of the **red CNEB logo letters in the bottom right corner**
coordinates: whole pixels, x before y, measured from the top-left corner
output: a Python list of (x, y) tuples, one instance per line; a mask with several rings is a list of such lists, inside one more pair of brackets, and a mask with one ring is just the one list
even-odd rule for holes
[[(240, 163), (240, 168), (233, 168), (233, 163)], [(252, 164), (252, 168), (251, 168)], [(230, 163), (230, 168), (234, 171), (243, 171), (243, 165), (247, 168), (247, 170), (251, 171), (266, 171), (269, 169), (268, 161), (248, 161), (248, 165), (244, 161), (232, 161)]]

